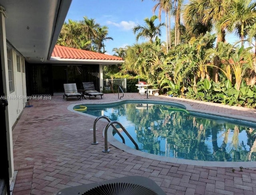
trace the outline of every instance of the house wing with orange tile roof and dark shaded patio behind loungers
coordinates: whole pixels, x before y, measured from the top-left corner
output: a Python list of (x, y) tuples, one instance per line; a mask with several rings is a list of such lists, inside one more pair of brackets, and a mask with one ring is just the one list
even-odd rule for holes
[(123, 63), (121, 57), (55, 45), (50, 59), (26, 63), (27, 95), (63, 93), (64, 83), (93, 81), (103, 89), (103, 66)]

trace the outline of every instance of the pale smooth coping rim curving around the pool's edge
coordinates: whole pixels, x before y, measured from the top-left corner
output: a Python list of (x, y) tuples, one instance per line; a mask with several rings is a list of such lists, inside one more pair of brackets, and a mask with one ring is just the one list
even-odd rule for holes
[[(141, 99), (133, 99), (133, 101), (143, 101)], [(102, 102), (102, 104), (111, 104), (111, 103), (117, 103), (117, 102), (125, 102), (125, 101), (130, 101), (130, 100), (117, 100), (117, 101), (113, 101), (113, 102)], [(227, 117), (227, 118), (234, 118), (234, 119), (240, 119), (240, 120), (245, 120), (245, 121), (249, 121), (249, 122), (256, 122), (256, 119), (251, 118), (251, 117), (244, 117), (244, 116), (240, 116), (240, 115), (232, 115), (232, 116), (227, 116), (227, 114), (224, 113), (218, 113), (218, 112), (208, 112), (205, 113), (203, 112), (203, 110), (198, 110), (198, 109), (194, 109), (192, 108), (192, 106), (190, 106), (187, 103), (184, 102), (177, 102), (175, 100), (172, 100), (172, 102), (169, 101), (164, 101), (164, 100), (150, 100), (152, 102), (166, 102), (166, 103), (175, 103), (175, 104), (180, 104), (186, 107), (186, 110), (190, 111), (190, 112), (199, 112), (202, 114), (212, 114), (212, 115), (216, 115), (216, 116), (223, 116), (223, 117)], [(86, 104), (95, 104), (95, 103), (86, 103)], [(91, 118), (98, 118), (97, 116), (92, 116), (90, 114), (86, 114), (83, 112), (79, 112), (74, 110), (74, 106), (77, 105), (81, 105), (81, 103), (77, 103), (77, 104), (70, 104), (67, 109), (71, 112), (75, 112), (77, 114), (82, 114), (84, 116), (88, 116)], [(105, 121), (104, 119), (100, 119), (102, 121)], [(152, 160), (159, 160), (159, 161), (163, 161), (163, 162), (170, 162), (170, 163), (178, 163), (178, 164), (186, 164), (186, 165), (197, 165), (197, 166), (212, 166), (212, 167), (244, 167), (244, 168), (249, 168), (249, 167), (255, 167), (256, 162), (213, 162), (213, 161), (200, 161), (200, 160), (186, 160), (186, 159), (180, 159), (180, 158), (173, 158), (173, 157), (167, 157), (167, 156), (158, 156), (155, 154), (149, 154), (146, 152), (142, 152), (139, 150), (136, 150), (134, 148), (130, 148), (129, 146), (126, 146), (125, 144), (119, 142), (118, 140), (116, 140), (116, 138), (114, 138), (112, 131), (107, 132), (107, 136), (108, 136), (108, 142), (114, 146), (115, 148), (118, 148), (120, 150), (123, 150), (124, 152), (130, 153), (130, 154), (134, 154), (136, 156), (141, 156), (144, 158), (149, 158)], [(102, 135), (104, 137), (104, 129), (102, 131)]]

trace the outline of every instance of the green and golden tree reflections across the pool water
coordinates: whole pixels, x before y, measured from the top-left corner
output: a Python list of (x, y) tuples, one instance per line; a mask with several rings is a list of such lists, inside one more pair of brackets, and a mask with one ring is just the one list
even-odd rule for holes
[[(137, 139), (143, 143), (143, 151), (169, 156), (165, 153), (170, 150), (170, 155), (174, 157), (204, 161), (256, 160), (254, 129), (250, 133), (238, 125), (225, 125), (215, 120), (169, 111), (169, 106), (154, 105), (139, 110), (134, 107), (130, 105), (127, 109), (128, 120), (136, 125)], [(249, 151), (246, 150), (246, 143), (239, 141), (240, 129), (246, 130)], [(228, 144), (230, 132), (233, 135)], [(161, 148), (164, 145), (160, 144), (161, 140), (166, 142), (164, 148)]]

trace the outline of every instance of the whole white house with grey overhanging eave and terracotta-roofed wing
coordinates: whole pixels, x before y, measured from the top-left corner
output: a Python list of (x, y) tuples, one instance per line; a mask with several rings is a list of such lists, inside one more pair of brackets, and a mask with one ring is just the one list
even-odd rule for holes
[(56, 46), (70, 4), (71, 0), (0, 0), (0, 195), (10, 194), (12, 127), (27, 97), (63, 92), (63, 83), (81, 79), (92, 79), (100, 90), (102, 66), (123, 62), (118, 57)]

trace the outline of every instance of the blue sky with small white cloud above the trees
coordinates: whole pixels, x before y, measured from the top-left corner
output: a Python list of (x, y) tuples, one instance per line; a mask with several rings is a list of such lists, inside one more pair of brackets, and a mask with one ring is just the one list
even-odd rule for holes
[[(72, 0), (66, 21), (83, 20), (84, 16), (94, 18), (101, 26), (108, 26), (108, 36), (114, 40), (105, 42), (105, 49), (108, 54), (114, 54), (114, 47), (125, 47), (136, 43), (132, 28), (138, 24), (144, 25), (144, 19), (153, 15), (152, 8), (156, 3), (152, 0)], [(158, 15), (158, 10), (156, 11)], [(164, 21), (162, 14), (162, 22)], [(159, 20), (156, 21), (159, 23)], [(172, 24), (173, 25), (173, 24)], [(163, 41), (166, 40), (165, 28), (162, 28)], [(227, 35), (228, 42), (233, 43), (232, 35)], [(144, 40), (139, 40), (139, 42)]]

